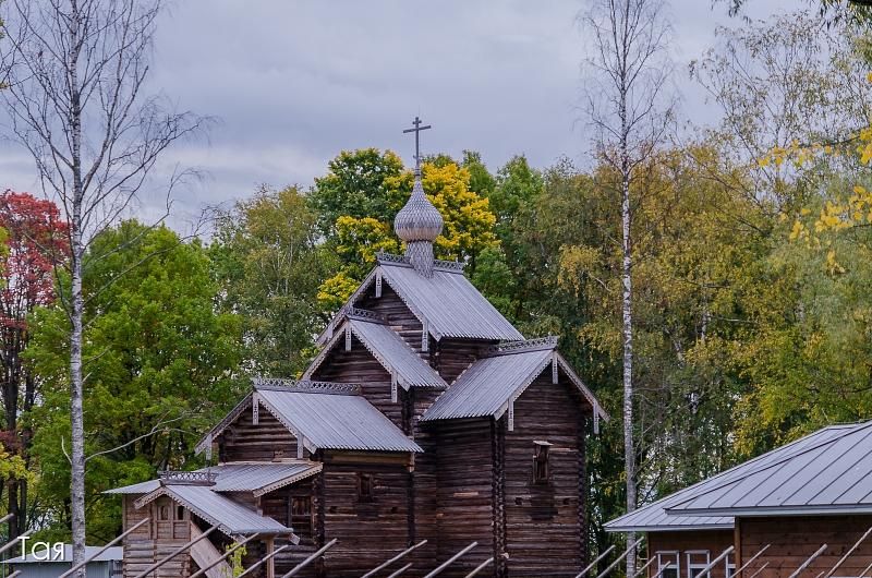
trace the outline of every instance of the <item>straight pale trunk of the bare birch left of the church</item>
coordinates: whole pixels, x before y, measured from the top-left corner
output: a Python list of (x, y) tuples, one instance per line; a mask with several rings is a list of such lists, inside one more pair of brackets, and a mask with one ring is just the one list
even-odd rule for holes
[[(71, 228), (71, 279), (70, 279), (70, 425), (72, 437), (70, 498), (73, 533), (73, 565), (85, 559), (85, 416), (83, 408), (84, 387), (82, 380), (82, 258), (85, 255), (82, 230), (82, 101), (78, 86), (78, 55), (82, 34), (82, 14), (76, 0), (71, 1), (70, 11), (70, 141), (72, 153), (72, 221)], [(77, 576), (85, 578), (83, 567)]]

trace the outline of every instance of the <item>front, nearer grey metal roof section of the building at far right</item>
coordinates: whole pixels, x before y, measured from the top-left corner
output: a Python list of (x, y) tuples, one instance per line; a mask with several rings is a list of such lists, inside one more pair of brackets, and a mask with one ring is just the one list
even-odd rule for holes
[(695, 486), (674, 515), (872, 513), (872, 421), (825, 428)]

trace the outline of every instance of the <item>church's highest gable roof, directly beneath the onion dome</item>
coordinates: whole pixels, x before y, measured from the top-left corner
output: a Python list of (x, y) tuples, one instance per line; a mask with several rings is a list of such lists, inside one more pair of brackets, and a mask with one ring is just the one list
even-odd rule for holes
[[(378, 262), (346, 308), (353, 306), (373, 285), (387, 282), (436, 340), (443, 337), (520, 340), (523, 335), (463, 275), (462, 264), (437, 261), (432, 277), (423, 277), (405, 257), (379, 254)], [(341, 323), (342, 311), (318, 337), (323, 345)]]

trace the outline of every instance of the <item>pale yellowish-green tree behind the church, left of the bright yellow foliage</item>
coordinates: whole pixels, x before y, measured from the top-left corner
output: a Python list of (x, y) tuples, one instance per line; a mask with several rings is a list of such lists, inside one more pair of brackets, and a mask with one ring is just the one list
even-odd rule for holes
[(318, 287), (335, 261), (318, 244), (317, 222), (292, 186), (261, 189), (218, 219), (209, 246), (218, 306), (241, 317), (251, 372), (293, 376), (311, 353), (323, 321)]

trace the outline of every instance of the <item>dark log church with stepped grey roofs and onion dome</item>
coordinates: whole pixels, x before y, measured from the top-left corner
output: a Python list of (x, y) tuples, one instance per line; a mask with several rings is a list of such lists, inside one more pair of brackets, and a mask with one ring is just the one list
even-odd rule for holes
[(301, 576), (360, 577), (423, 540), (404, 576), (472, 542), (441, 576), (489, 557), (480, 576), (588, 562), (585, 445), (606, 416), (556, 338), (525, 339), (462, 264), (434, 258), (443, 218), (416, 165), (395, 220), (405, 254), (378, 256), (302, 378), (254, 380), (197, 446), (216, 465), (112, 491), (125, 530), (150, 518), (124, 540), (124, 577), (213, 526), (153, 576), (191, 576), (252, 535), (246, 568), (281, 549), (246, 575), (266, 578), (334, 539)]

